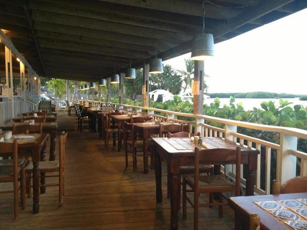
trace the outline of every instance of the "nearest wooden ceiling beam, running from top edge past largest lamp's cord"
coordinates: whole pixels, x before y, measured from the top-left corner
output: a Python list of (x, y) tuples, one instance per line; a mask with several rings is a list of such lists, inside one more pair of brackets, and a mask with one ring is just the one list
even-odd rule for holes
[[(162, 10), (179, 14), (190, 14), (203, 16), (203, 5), (200, 2), (190, 2), (185, 0), (100, 0), (103, 2), (112, 2), (128, 6), (136, 6), (147, 9)], [(205, 3), (206, 17), (229, 19), (238, 15), (241, 10), (227, 9)]]

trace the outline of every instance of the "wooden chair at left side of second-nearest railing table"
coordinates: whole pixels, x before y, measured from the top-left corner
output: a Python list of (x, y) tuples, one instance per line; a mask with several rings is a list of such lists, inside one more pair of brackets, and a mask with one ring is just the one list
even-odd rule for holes
[[(125, 157), (126, 157), (126, 167), (128, 167), (128, 146), (132, 148), (132, 159), (133, 159), (133, 172), (136, 171), (137, 160), (136, 157), (137, 152), (143, 152), (143, 139), (137, 140), (136, 133), (134, 131), (134, 123), (124, 123), (124, 142), (125, 147)], [(142, 154), (143, 156), (143, 154)]]

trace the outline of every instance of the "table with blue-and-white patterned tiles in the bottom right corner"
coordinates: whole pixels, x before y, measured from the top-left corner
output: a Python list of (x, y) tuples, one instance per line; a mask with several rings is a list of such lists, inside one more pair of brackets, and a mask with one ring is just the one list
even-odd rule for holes
[[(289, 200), (291, 201), (289, 202)], [(293, 200), (294, 202), (292, 202)], [(256, 213), (260, 217), (261, 229), (296, 229), (292, 228), (291, 224), (301, 223), (297, 223), (295, 219), (300, 221), (299, 219), (304, 220), (305, 218), (307, 220), (307, 209), (305, 208), (307, 206), (307, 193), (230, 197), (228, 204), (234, 209), (235, 229), (249, 229), (249, 218), (252, 213)], [(295, 208), (295, 206), (301, 207)], [(305, 208), (302, 212), (303, 216), (300, 216), (299, 210), (301, 208)], [(284, 214), (280, 213), (279, 210), (283, 210)], [(305, 228), (301, 229), (306, 228), (307, 221), (305, 221)]]

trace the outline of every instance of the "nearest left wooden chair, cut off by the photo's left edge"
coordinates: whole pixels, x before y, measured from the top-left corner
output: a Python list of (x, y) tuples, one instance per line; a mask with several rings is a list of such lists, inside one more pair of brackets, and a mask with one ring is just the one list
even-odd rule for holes
[[(13, 155), (12, 155), (13, 153)], [(1, 191), (0, 193), (14, 193), (14, 220), (19, 218), (18, 208), (18, 191), (21, 190), (21, 205), (22, 210), (26, 207), (25, 200), (25, 184), (26, 184), (26, 172), (24, 168), (24, 162), (21, 163), (18, 159), (18, 142), (14, 140), (13, 143), (0, 143), (0, 154), (7, 154), (13, 156), (10, 160), (0, 160), (1, 165), (7, 165), (0, 167), (0, 182), (13, 182), (13, 191)], [(18, 176), (20, 175), (20, 187), (18, 186)]]

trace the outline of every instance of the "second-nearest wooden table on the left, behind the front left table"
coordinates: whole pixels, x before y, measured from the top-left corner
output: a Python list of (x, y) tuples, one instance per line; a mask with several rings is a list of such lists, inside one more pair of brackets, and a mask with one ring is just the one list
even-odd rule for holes
[[(1, 126), (3, 131), (12, 130), (13, 124), (15, 125), (25, 125), (23, 122), (12, 122), (4, 126)], [(33, 125), (39, 126), (40, 123), (35, 122)], [(56, 134), (57, 134), (57, 122), (45, 122), (43, 124), (43, 133), (48, 133), (50, 135), (50, 161), (55, 160), (55, 148), (56, 148)]]

